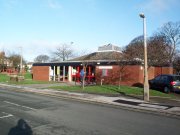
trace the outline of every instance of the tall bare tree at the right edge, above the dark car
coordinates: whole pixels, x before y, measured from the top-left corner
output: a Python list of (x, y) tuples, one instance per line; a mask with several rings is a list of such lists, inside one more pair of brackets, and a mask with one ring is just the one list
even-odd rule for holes
[(166, 43), (169, 45), (169, 63), (172, 64), (180, 44), (180, 22), (168, 22), (164, 24), (159, 29), (158, 34), (164, 37)]

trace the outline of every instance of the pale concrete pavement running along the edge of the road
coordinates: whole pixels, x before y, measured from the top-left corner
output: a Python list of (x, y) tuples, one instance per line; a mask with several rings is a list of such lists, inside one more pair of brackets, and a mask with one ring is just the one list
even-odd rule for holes
[(88, 93), (75, 93), (75, 92), (58, 91), (52, 89), (42, 89), (40, 85), (19, 86), (19, 85), (0, 84), (0, 86), (13, 88), (13, 90), (16, 91), (31, 92), (31, 93), (50, 95), (55, 97), (71, 98), (85, 102), (108, 104), (117, 107), (125, 107), (128, 109), (146, 111), (150, 113), (161, 113), (161, 114), (180, 117), (180, 104), (179, 104), (180, 101), (178, 100), (174, 101), (173, 104), (166, 104), (166, 103), (158, 102), (157, 98), (156, 100), (152, 100), (152, 102), (144, 102), (143, 100), (135, 99), (133, 97), (125, 97), (125, 96), (110, 97), (110, 96), (88, 94)]

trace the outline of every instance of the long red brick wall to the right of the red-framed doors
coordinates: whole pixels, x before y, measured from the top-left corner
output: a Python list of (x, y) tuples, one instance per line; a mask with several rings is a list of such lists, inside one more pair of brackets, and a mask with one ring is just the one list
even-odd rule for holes
[[(152, 79), (158, 74), (172, 74), (173, 70), (169, 67), (150, 67), (148, 69), (148, 78)], [(119, 84), (119, 66), (113, 66), (113, 69), (108, 69), (108, 76), (102, 77), (102, 69), (96, 67), (96, 81), (97, 84), (101, 83), (101, 79), (104, 79), (103, 84)], [(129, 86), (142, 86), (144, 82), (144, 68), (138, 65), (125, 66), (122, 72), (121, 85)]]

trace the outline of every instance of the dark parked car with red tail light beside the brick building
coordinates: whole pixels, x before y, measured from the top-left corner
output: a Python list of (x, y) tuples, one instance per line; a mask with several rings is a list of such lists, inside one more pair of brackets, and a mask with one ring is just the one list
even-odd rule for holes
[(151, 89), (162, 90), (165, 93), (180, 92), (180, 75), (162, 74), (149, 80)]

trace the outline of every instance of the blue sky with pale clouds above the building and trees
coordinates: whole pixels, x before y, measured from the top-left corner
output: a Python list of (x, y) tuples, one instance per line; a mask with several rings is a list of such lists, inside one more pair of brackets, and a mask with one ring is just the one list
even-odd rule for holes
[(123, 47), (142, 35), (139, 13), (151, 36), (164, 23), (180, 21), (180, 0), (0, 0), (0, 50), (27, 61), (73, 42), (75, 51)]

